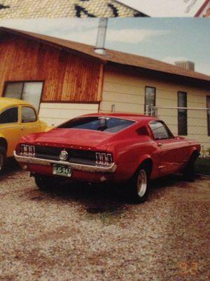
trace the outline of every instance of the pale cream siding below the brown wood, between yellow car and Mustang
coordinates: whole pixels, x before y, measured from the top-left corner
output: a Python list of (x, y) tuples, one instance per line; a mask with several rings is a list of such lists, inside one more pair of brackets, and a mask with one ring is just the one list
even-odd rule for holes
[(41, 103), (39, 118), (48, 125), (59, 125), (73, 117), (96, 113), (98, 107), (92, 103)]

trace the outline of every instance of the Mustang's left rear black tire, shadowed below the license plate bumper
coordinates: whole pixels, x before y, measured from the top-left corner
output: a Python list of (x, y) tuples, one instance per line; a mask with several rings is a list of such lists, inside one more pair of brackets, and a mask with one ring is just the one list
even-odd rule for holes
[(52, 176), (43, 176), (39, 174), (34, 175), (35, 183), (40, 190), (52, 190), (57, 185), (59, 185), (60, 181), (57, 178)]

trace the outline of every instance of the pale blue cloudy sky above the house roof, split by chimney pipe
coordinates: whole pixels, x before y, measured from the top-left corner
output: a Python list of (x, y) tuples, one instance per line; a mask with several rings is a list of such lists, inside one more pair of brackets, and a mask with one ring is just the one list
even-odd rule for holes
[[(16, 28), (94, 45), (97, 18), (1, 20)], [(210, 18), (109, 18), (106, 48), (172, 63), (195, 62), (195, 70), (210, 75)]]

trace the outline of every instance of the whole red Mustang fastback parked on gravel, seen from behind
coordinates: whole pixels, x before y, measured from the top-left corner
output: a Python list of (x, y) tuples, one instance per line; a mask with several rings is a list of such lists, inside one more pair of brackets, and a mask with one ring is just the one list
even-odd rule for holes
[(192, 181), (199, 153), (200, 144), (174, 137), (160, 119), (118, 113), (83, 115), (25, 136), (15, 159), (42, 190), (66, 178), (128, 183), (134, 201), (144, 202), (151, 179), (181, 171)]

